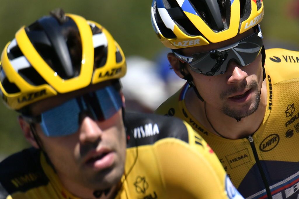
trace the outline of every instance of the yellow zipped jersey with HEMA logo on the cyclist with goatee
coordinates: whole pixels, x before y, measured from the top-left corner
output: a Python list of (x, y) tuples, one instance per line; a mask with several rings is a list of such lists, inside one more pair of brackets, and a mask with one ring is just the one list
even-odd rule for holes
[(298, 199), (299, 52), (276, 48), (266, 56), (268, 105), (253, 135), (229, 140), (210, 133), (186, 108), (187, 84), (156, 113), (179, 117), (199, 132), (244, 198)]

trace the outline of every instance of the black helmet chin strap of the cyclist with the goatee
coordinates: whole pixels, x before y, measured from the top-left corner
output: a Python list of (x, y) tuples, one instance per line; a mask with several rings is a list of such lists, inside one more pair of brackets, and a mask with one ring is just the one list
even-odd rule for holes
[[(262, 49), (261, 49), (261, 55), (262, 55), (262, 67), (263, 67), (263, 81), (266, 78), (266, 71), (265, 71), (265, 61), (266, 61), (266, 51), (265, 51), (265, 47), (263, 45)], [(186, 79), (188, 84), (193, 88), (196, 96), (198, 97), (199, 100), (201, 100), (202, 102), (204, 102), (205, 100), (200, 96), (196, 86), (194, 85), (193, 81), (193, 77), (191, 76), (191, 74), (186, 74), (185, 71), (183, 70), (183, 67), (180, 68), (180, 72), (181, 74), (184, 76), (183, 79)], [(262, 93), (262, 91), (260, 92), (260, 94)], [(237, 122), (241, 121), (241, 117), (236, 117), (235, 118), (237, 120)]]

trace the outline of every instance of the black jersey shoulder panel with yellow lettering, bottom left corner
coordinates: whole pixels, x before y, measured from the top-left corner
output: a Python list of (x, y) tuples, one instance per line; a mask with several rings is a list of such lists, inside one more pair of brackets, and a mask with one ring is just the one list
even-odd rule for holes
[(4, 193), (26, 192), (47, 181), (39, 157), (40, 151), (30, 148), (15, 153), (0, 163), (1, 197)]

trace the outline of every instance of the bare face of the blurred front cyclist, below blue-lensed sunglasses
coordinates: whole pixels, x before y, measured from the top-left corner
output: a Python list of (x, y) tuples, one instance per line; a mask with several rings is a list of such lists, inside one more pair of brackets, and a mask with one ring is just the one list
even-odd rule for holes
[[(33, 114), (38, 115), (70, 97), (57, 96), (37, 103)], [(120, 180), (126, 155), (121, 109), (104, 121), (84, 117), (77, 132), (71, 135), (47, 137), (39, 124), (36, 131), (62, 183), (103, 190)]]

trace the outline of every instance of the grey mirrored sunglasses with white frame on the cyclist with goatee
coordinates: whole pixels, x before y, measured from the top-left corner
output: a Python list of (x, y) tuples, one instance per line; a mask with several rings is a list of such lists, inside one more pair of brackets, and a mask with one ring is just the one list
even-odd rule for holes
[(259, 55), (263, 47), (263, 36), (260, 25), (251, 36), (217, 50), (196, 53), (192, 56), (180, 55), (173, 51), (175, 56), (187, 62), (191, 70), (207, 76), (224, 74), (230, 61), (237, 62), (240, 66), (251, 64)]

